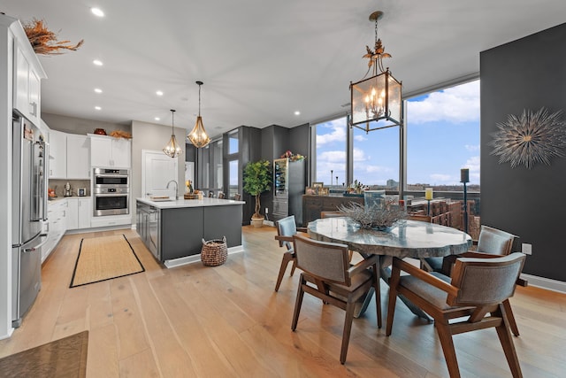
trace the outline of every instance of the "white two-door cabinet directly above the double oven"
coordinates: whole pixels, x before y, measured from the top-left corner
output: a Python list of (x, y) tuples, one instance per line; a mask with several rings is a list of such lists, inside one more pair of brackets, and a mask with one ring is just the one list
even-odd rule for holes
[(132, 145), (129, 139), (94, 134), (88, 136), (91, 166), (130, 168)]

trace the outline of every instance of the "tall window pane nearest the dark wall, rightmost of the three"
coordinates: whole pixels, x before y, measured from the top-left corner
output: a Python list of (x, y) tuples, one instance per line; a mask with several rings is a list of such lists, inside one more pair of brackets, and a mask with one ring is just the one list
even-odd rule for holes
[(460, 169), (470, 169), (479, 191), (479, 81), (437, 90), (406, 102), (407, 189), (462, 191)]

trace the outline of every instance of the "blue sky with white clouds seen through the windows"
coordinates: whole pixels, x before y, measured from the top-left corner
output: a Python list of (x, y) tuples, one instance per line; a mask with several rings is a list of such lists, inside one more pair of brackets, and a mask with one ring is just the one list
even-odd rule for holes
[[(479, 116), (479, 81), (410, 98), (408, 184), (460, 184), (461, 168), (470, 169), (470, 184), (479, 184)], [(317, 181), (345, 181), (346, 132), (345, 118), (317, 125)], [(399, 181), (399, 127), (369, 134), (354, 128), (354, 179), (367, 185)]]

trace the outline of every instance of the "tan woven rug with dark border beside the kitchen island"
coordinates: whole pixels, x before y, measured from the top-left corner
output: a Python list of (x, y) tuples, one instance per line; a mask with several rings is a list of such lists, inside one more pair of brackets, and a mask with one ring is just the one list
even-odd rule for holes
[(145, 271), (126, 235), (82, 239), (71, 288)]

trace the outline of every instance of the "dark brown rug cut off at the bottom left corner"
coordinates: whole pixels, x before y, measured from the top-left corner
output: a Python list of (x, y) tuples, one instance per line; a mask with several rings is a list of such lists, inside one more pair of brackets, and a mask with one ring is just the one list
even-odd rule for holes
[(88, 331), (0, 359), (3, 377), (87, 376)]

